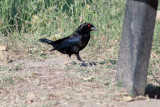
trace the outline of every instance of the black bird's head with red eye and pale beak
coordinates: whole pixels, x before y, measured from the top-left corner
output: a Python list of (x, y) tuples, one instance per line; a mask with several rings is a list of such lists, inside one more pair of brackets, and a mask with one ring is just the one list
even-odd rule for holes
[(96, 27), (91, 24), (91, 23), (84, 23), (84, 24), (81, 24), (79, 27), (78, 27), (78, 31), (79, 32), (84, 32), (84, 33), (88, 33), (88, 32), (91, 32), (92, 30), (97, 30)]

